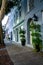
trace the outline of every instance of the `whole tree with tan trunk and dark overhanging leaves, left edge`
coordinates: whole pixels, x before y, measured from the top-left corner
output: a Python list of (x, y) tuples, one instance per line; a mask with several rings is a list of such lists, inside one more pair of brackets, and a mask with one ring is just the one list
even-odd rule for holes
[(0, 44), (3, 44), (2, 19), (13, 6), (18, 6), (20, 0), (0, 0)]

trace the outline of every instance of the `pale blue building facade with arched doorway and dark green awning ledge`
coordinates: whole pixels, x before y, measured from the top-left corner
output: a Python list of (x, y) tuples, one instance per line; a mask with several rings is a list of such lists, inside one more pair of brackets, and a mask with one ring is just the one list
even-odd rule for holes
[(11, 14), (13, 17), (9, 18), (11, 23), (8, 27), (12, 27), (12, 40), (14, 42), (21, 44), (19, 31), (20, 28), (22, 28), (26, 31), (26, 45), (33, 47), (28, 26), (30, 24), (29, 19), (33, 18), (34, 14), (38, 17), (37, 24), (41, 25), (41, 35), (43, 40), (43, 0), (21, 0), (20, 8), (14, 7), (13, 11)]

